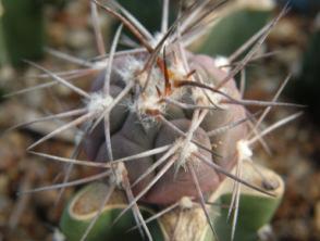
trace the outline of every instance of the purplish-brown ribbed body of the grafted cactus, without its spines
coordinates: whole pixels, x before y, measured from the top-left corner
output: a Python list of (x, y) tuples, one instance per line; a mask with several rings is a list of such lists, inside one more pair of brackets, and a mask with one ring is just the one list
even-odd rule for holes
[[(131, 56), (125, 56), (131, 58)], [(115, 63), (125, 63), (125, 59), (115, 60)], [(146, 61), (146, 60), (145, 60)], [(226, 73), (219, 69), (214, 66), (214, 61), (206, 55), (193, 55), (189, 56), (190, 65), (196, 69), (196, 72), (200, 73), (206, 79), (208, 85), (214, 86), (218, 79), (221, 79), (226, 76)], [(121, 79), (120, 76), (116, 76), (116, 72), (121, 72), (121, 67), (114, 64), (114, 75), (113, 79), (111, 79), (111, 93), (120, 92), (120, 86), (122, 89), (124, 88), (124, 83), (128, 81), (127, 79)], [(157, 69), (155, 72), (159, 72)], [(118, 74), (119, 75), (119, 74)], [(97, 84), (94, 86), (95, 91), (100, 91), (100, 88), (103, 86), (103, 76), (104, 73), (96, 80)], [(158, 78), (163, 78), (163, 76), (159, 75)], [(134, 81), (134, 79), (130, 80)], [(152, 79), (152, 81), (156, 81)], [(99, 88), (100, 87), (100, 88)], [(156, 88), (156, 87), (155, 87)], [(185, 88), (187, 89), (187, 88)], [(177, 101), (186, 99), (190, 104), (195, 104), (195, 100), (189, 97), (192, 93), (189, 90), (181, 90), (176, 89), (174, 91), (183, 91), (184, 93), (179, 97)], [(189, 91), (189, 92), (188, 92)], [(238, 98), (238, 91), (236, 89), (234, 80), (230, 81), (225, 87), (225, 91), (234, 98)], [(155, 91), (155, 98), (157, 98)], [(172, 93), (174, 96), (175, 93)], [(127, 97), (127, 102), (134, 97)], [(201, 98), (206, 98), (205, 96)], [(131, 103), (127, 103), (131, 104)], [(135, 103), (132, 103), (133, 105)], [(217, 103), (219, 104), (219, 103)], [(121, 109), (118, 111), (118, 109)], [(111, 113), (111, 145), (113, 151), (113, 158), (122, 158), (125, 156), (131, 156), (134, 154), (138, 154), (144, 151), (151, 150), (153, 148), (160, 148), (165, 144), (172, 144), (177, 141), (181, 137), (177, 132), (172, 131), (172, 129), (168, 126), (163, 126), (157, 119), (151, 120), (151, 123), (146, 123), (148, 120), (139, 120), (140, 113), (135, 113), (133, 111), (123, 110), (123, 103), (120, 103), (115, 109), (114, 116)], [(193, 111), (185, 111), (181, 107), (176, 106), (165, 106), (163, 111), (164, 116), (168, 116), (168, 119), (182, 131), (186, 132), (190, 126), (190, 118), (193, 116)], [(219, 128), (221, 126), (227, 125), (229, 123), (235, 122), (237, 119), (245, 117), (244, 107), (241, 105), (229, 105), (226, 110), (218, 109), (210, 111), (200, 127), (197, 128), (194, 134), (195, 140), (199, 141), (207, 149), (212, 150), (223, 157), (216, 157), (214, 162), (219, 163), (221, 166), (226, 169), (231, 169), (235, 164), (236, 158), (236, 142), (245, 137), (246, 126), (238, 126), (225, 134), (221, 134), (217, 137), (209, 138), (206, 132)], [(113, 127), (113, 125), (118, 125)], [(144, 125), (148, 125), (147, 127)], [(86, 140), (87, 153), (88, 156), (93, 161), (97, 162), (106, 162), (108, 161), (108, 153), (106, 149), (106, 139), (103, 132), (102, 123), (99, 125), (97, 130)], [(218, 147), (212, 148), (216, 143)], [(212, 153), (208, 151), (200, 150), (201, 154), (206, 155), (208, 158), (213, 161)], [(162, 154), (158, 154), (156, 156), (149, 156), (144, 160), (139, 160), (137, 162), (130, 162), (126, 165), (128, 170), (130, 180), (133, 183), (139, 176), (141, 176), (147, 168), (149, 168), (157, 160), (161, 157)], [(197, 162), (197, 161), (193, 161)], [(164, 165), (165, 163), (163, 163)], [(133, 191), (134, 193), (138, 193), (141, 191), (150, 180), (157, 175), (157, 170), (161, 169), (163, 166), (159, 166), (155, 172), (150, 173), (139, 185), (137, 185)], [(204, 192), (213, 191), (219, 186), (222, 176), (217, 174), (213, 169), (207, 167), (206, 164), (198, 162), (196, 166), (197, 175), (201, 178), (200, 185)], [(150, 191), (143, 198), (143, 201), (152, 203), (152, 204), (172, 204), (177, 202), (184, 195), (195, 195), (196, 190), (193, 186), (193, 180), (189, 172), (185, 168), (180, 168), (176, 175), (174, 175), (176, 166), (172, 166), (163, 177), (152, 187)]]

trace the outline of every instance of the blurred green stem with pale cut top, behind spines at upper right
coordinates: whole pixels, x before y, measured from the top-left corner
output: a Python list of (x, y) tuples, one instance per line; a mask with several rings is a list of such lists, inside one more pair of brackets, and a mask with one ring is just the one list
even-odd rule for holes
[(269, 0), (253, 2), (235, 1), (206, 35), (197, 51), (209, 55), (230, 55), (260, 30), (270, 20), (273, 4)]

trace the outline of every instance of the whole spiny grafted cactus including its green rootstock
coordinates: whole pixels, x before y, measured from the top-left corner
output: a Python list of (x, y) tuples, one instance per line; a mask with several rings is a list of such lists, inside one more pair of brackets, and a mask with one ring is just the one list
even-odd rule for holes
[[(286, 9), (254, 36), (255, 41), (248, 41), (253, 48), (229, 69), (233, 65), (227, 59), (186, 50), (202, 33), (210, 13), (222, 7), (216, 1), (193, 2), (168, 27), (169, 1), (164, 0), (162, 30), (153, 36), (120, 4), (94, 0), (93, 22), (101, 43), (97, 7), (122, 24), (107, 58), (99, 48), (103, 59), (81, 62), (89, 71), (100, 72), (90, 91), (28, 62), (53, 79), (38, 88), (63, 85), (84, 99), (84, 106), (32, 122), (76, 116), (28, 148), (36, 155), (67, 163), (63, 183), (26, 192), (57, 188), (62, 193), (66, 187), (100, 181), (81, 190), (65, 207), (61, 229), (67, 240), (121, 239), (119, 236), (133, 230), (139, 233), (137, 239), (148, 240), (254, 239), (270, 221), (283, 183), (276, 174), (253, 162), (253, 145), (264, 143), (267, 134), (301, 113), (261, 130), (271, 107), (298, 106), (276, 101), (288, 78), (272, 101), (256, 101), (243, 98), (234, 77), (256, 56)], [(139, 48), (116, 51), (123, 27), (139, 41)], [(237, 54), (243, 51), (246, 48)], [(249, 105), (263, 111), (249, 114)], [(83, 131), (70, 158), (33, 151), (75, 126), (82, 126)], [(88, 160), (78, 160), (81, 149)], [(98, 172), (69, 181), (74, 165), (96, 167)], [(225, 218), (231, 216), (227, 224)]]

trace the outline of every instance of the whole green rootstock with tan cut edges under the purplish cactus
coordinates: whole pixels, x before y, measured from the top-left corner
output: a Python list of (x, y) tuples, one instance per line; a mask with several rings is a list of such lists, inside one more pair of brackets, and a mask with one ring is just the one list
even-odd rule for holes
[[(260, 174), (257, 174), (259, 168)], [(247, 187), (242, 187), (239, 198), (238, 223), (235, 230), (234, 240), (257, 240), (258, 231), (271, 220), (276, 207), (284, 193), (284, 182), (279, 175), (272, 170), (254, 166), (253, 163), (245, 162), (243, 165), (244, 179), (258, 187), (271, 191), (273, 196), (269, 196)], [(234, 173), (235, 170), (233, 170)], [(231, 204), (234, 181), (225, 179), (219, 190), (209, 198), (208, 207), (211, 206), (210, 216), (214, 220), (214, 230), (220, 240), (231, 239), (232, 218), (227, 220), (229, 206)], [(67, 240), (76, 241), (88, 227), (90, 220), (100, 208), (103, 193), (108, 192), (108, 185), (102, 182), (91, 183), (82, 190), (70, 201), (61, 218), (61, 229)], [(184, 202), (184, 204), (183, 204)], [(153, 240), (161, 241), (170, 237), (176, 241), (198, 240), (214, 241), (214, 237), (207, 224), (206, 216), (197, 203), (189, 199), (184, 201), (176, 208), (161, 216), (157, 221), (150, 221), (148, 227)], [(141, 240), (138, 230), (128, 231), (135, 227), (135, 220), (132, 214), (123, 216), (115, 225), (114, 218), (121, 210), (126, 206), (125, 196), (120, 191), (114, 192), (109, 202), (104, 205), (101, 215), (91, 229), (88, 241), (108, 240)], [(150, 208), (139, 206), (147, 219), (156, 213)], [(171, 233), (171, 234), (170, 234)], [(172, 234), (174, 233), (174, 234)]]

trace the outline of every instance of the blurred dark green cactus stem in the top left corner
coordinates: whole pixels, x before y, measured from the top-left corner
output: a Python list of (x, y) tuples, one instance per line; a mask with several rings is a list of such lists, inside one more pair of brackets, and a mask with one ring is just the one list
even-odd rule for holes
[[(1, 0), (0, 63), (21, 65), (23, 59), (44, 55), (44, 16), (41, 0)], [(2, 27), (1, 27), (2, 26)], [(5, 51), (4, 51), (5, 50)]]

